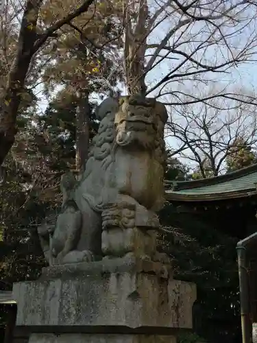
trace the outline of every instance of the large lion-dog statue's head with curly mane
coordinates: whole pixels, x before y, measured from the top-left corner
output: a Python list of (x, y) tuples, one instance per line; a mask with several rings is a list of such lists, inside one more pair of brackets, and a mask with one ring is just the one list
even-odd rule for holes
[(93, 139), (85, 177), (93, 161), (101, 161), (106, 169), (113, 160), (111, 154), (117, 147), (124, 150), (148, 150), (154, 158), (164, 163), (164, 124), (167, 110), (154, 98), (138, 95), (104, 100), (97, 109), (99, 130)]

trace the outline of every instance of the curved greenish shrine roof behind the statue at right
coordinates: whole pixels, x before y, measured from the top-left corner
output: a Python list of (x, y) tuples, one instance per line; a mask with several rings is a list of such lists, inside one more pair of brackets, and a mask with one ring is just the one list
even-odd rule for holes
[(213, 201), (257, 195), (257, 164), (221, 176), (193, 181), (168, 181), (167, 200)]

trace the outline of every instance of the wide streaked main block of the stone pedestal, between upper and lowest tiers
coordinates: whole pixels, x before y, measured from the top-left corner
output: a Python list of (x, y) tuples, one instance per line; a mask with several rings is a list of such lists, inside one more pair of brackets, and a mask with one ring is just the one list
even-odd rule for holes
[(17, 325), (191, 328), (195, 286), (151, 274), (14, 284)]

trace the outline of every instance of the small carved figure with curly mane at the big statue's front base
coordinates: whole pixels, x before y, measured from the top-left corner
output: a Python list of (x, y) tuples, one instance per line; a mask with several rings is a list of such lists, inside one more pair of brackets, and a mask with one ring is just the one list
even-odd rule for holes
[(102, 252), (105, 257), (154, 259), (158, 217), (129, 196), (106, 204), (102, 213)]

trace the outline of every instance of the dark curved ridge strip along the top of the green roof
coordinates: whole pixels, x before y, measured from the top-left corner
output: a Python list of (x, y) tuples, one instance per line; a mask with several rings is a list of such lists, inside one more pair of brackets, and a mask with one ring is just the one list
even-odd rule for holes
[(199, 180), (189, 180), (189, 181), (166, 181), (167, 185), (171, 185), (173, 191), (182, 191), (183, 189), (194, 189), (199, 187), (206, 187), (211, 185), (217, 185), (222, 182), (235, 180), (236, 178), (241, 178), (245, 175), (253, 174), (257, 172), (257, 163), (250, 165), (231, 173), (214, 176), (212, 178), (202, 178)]

